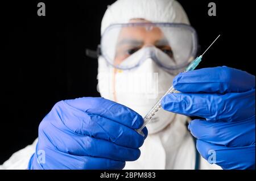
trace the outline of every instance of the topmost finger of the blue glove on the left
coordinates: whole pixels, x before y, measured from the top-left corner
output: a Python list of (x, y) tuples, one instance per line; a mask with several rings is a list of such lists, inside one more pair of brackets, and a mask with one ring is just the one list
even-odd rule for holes
[(64, 102), (76, 110), (100, 115), (133, 129), (138, 129), (143, 124), (143, 118), (137, 112), (108, 99), (86, 97), (64, 100)]

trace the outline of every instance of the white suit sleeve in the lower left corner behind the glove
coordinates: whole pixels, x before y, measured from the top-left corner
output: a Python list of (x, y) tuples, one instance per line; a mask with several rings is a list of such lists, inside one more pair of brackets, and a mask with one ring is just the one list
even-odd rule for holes
[(7, 161), (0, 165), (0, 170), (24, 170), (27, 169), (28, 162), (33, 153), (35, 153), (38, 138), (25, 148), (16, 151)]

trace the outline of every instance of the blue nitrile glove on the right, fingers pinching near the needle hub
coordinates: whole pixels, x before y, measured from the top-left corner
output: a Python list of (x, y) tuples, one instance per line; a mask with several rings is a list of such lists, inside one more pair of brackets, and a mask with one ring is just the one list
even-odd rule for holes
[(199, 153), (214, 163), (214, 151), (222, 169), (255, 169), (255, 76), (206, 68), (180, 73), (174, 87), (182, 93), (165, 96), (164, 110), (205, 118), (188, 126)]

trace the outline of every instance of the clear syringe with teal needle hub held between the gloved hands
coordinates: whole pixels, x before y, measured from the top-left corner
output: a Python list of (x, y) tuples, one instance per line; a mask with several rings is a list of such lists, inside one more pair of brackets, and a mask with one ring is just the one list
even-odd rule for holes
[[(220, 37), (220, 35), (218, 35), (218, 37)], [(218, 39), (218, 37), (213, 41), (213, 43)], [(212, 44), (213, 44), (212, 43)], [(197, 65), (199, 65), (199, 63), (202, 60), (203, 55), (205, 54), (205, 52), (207, 52), (207, 50), (212, 46), (212, 44), (210, 44), (210, 46), (204, 51), (203, 54), (201, 54), (199, 57), (196, 57), (195, 60), (193, 60), (191, 62), (191, 64), (189, 64), (187, 66), (187, 68), (183, 71), (183, 72), (187, 72), (187, 71), (191, 71), (194, 70)], [(174, 89), (174, 86), (171, 86), (170, 89), (168, 89), (168, 91), (162, 96), (162, 98), (160, 98), (158, 100), (158, 102), (156, 102), (156, 104), (151, 108), (151, 110), (147, 113), (147, 115), (144, 117), (143, 119), (143, 125), (141, 128), (137, 129), (136, 131), (141, 134), (142, 136), (144, 136), (144, 133), (142, 132), (142, 129), (146, 126), (146, 124), (152, 119), (152, 117), (155, 116), (155, 113), (158, 112), (160, 110), (161, 106), (161, 100), (163, 99), (164, 96), (166, 96), (167, 94), (171, 94), (171, 93), (175, 93), (176, 90)]]

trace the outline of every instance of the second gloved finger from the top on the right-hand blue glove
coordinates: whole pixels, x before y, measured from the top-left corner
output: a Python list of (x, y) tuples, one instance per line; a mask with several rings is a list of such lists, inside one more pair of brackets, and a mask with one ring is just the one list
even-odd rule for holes
[(162, 99), (164, 110), (211, 121), (240, 121), (255, 115), (255, 91), (221, 94), (173, 93)]

